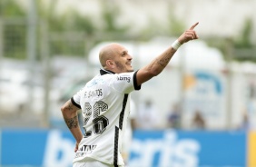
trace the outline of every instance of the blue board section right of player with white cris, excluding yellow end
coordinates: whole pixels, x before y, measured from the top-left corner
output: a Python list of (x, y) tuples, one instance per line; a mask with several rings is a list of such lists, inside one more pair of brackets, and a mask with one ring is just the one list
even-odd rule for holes
[(246, 166), (246, 133), (136, 131), (131, 166)]

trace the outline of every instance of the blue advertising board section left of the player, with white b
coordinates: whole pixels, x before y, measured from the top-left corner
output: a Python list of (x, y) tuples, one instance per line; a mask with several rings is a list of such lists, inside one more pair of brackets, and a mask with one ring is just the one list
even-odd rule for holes
[(2, 130), (0, 165), (72, 166), (74, 138), (68, 131)]

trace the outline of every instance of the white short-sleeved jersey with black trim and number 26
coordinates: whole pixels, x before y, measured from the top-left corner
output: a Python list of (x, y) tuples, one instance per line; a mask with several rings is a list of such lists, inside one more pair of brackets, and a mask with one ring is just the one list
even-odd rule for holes
[(71, 101), (82, 109), (84, 138), (79, 144), (74, 162), (86, 157), (100, 162), (124, 165), (122, 138), (130, 112), (130, 96), (137, 86), (136, 72), (113, 74), (100, 70)]

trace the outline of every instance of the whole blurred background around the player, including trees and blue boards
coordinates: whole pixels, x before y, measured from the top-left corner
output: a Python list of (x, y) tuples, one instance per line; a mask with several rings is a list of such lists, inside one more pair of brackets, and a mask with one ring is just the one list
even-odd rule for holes
[[(99, 48), (125, 45), (138, 69), (199, 21), (200, 40), (132, 93), (129, 167), (256, 167), (255, 6), (1, 0), (0, 166), (72, 166), (74, 139), (60, 107), (98, 72)], [(143, 112), (153, 117), (150, 130)]]

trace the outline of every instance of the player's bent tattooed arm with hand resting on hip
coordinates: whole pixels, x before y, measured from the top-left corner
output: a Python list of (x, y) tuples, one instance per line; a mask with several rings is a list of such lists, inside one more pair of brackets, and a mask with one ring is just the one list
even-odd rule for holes
[(76, 141), (74, 152), (77, 151), (78, 144), (83, 138), (83, 134), (79, 127), (77, 110), (79, 110), (79, 108), (74, 106), (74, 104), (71, 102), (71, 100), (64, 103), (64, 105), (61, 108), (61, 111), (62, 111), (63, 117), (64, 117), (64, 122), (66, 123), (70, 132), (73, 134), (74, 139)]

